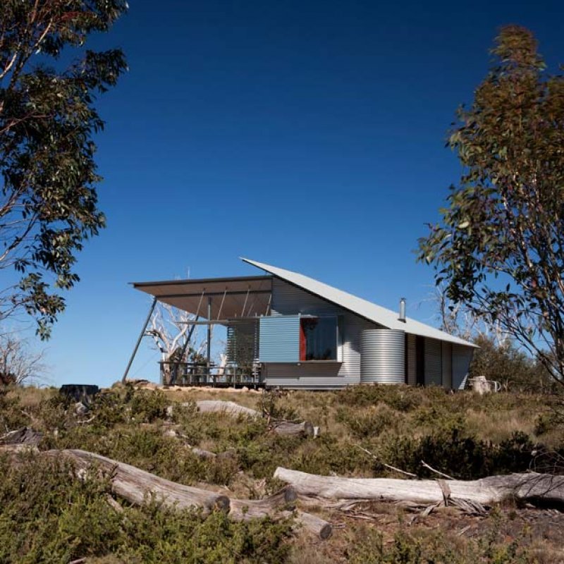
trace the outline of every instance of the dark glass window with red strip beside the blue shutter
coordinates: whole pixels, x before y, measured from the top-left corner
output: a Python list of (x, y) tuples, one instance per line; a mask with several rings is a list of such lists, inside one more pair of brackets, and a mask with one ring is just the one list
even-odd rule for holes
[(336, 317), (300, 318), (300, 361), (337, 360)]

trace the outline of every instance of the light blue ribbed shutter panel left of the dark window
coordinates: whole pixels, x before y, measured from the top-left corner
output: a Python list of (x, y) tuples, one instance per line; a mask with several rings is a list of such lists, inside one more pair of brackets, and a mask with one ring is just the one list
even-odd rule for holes
[(259, 335), (260, 362), (298, 362), (300, 360), (300, 317), (298, 315), (261, 317)]

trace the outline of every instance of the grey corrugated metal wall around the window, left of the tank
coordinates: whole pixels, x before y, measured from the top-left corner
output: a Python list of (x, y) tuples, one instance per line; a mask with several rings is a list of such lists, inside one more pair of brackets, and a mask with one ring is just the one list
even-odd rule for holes
[[(279, 278), (274, 278), (272, 281), (271, 315), (295, 315), (298, 313), (304, 315), (336, 315), (342, 318), (342, 323), (340, 324), (340, 329), (342, 330), (342, 364), (338, 369), (338, 374), (333, 376), (334, 366), (330, 368), (329, 363), (326, 364), (324, 369), (309, 364), (301, 364), (300, 367), (288, 366), (286, 368), (269, 366), (267, 374), (273, 374), (274, 378), (274, 373), (280, 374), (280, 370), (283, 369), (284, 374), (287, 374), (286, 378), (296, 378), (300, 374), (303, 376), (315, 374), (316, 378), (323, 377), (328, 379), (328, 383), (331, 383), (332, 387), (358, 384), (360, 382), (360, 335), (364, 329), (374, 329), (378, 325), (350, 313), (338, 307), (338, 305), (326, 302), (301, 288), (296, 288)], [(321, 374), (322, 372), (325, 372), (326, 376)], [(269, 385), (283, 385), (270, 384), (270, 376), (266, 377), (269, 380)], [(279, 376), (276, 377), (278, 378)], [(331, 382), (329, 382), (329, 379)], [(340, 384), (335, 379), (338, 379)], [(300, 385), (304, 386), (305, 384)]]

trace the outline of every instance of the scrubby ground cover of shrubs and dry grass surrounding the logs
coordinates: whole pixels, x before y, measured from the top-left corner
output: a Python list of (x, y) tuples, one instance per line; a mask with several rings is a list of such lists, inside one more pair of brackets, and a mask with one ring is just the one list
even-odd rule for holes
[[(281, 486), (272, 478), (278, 465), (357, 477), (403, 477), (388, 465), (436, 477), (422, 460), (460, 479), (526, 471), (546, 460), (544, 453), (564, 457), (564, 431), (549, 397), (403, 386), (235, 394), (116, 385), (99, 393), (87, 414), (76, 415), (56, 390), (7, 388), (0, 393), (0, 425), (42, 431), (40, 451), (82, 448), (174, 482), (260, 498)], [(209, 398), (308, 419), (319, 424), (321, 436), (279, 436), (268, 432), (266, 419), (197, 412), (195, 400)], [(193, 446), (230, 455), (200, 458)], [(505, 504), (486, 517), (450, 508), (422, 517), (390, 503), (367, 503), (359, 517), (318, 508), (333, 526), (343, 525), (319, 541), (292, 528), (291, 519), (232, 522), (219, 513), (204, 519), (197, 511), (172, 513), (150, 498), (132, 507), (111, 494), (104, 477), (78, 481), (68, 464), (37, 453), (0, 453), (0, 472), (6, 478), (0, 561), (7, 563), (562, 560), (557, 531), (564, 519), (553, 510)]]

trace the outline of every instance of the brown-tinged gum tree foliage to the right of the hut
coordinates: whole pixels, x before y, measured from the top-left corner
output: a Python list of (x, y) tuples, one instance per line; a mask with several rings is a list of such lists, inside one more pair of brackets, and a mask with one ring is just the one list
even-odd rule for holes
[(464, 167), (419, 260), (564, 384), (564, 77), (531, 32), (503, 27), (493, 67), (448, 145)]

